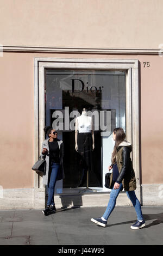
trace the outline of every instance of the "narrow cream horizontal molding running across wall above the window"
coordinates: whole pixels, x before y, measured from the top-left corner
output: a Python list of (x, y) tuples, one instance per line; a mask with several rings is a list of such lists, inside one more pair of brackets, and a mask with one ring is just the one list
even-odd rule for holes
[(92, 53), (92, 54), (159, 54), (160, 48), (83, 48), (1, 45), (3, 52)]

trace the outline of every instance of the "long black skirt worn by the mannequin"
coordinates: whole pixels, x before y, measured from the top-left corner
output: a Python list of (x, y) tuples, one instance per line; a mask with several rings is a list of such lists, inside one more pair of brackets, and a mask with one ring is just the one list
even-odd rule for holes
[(78, 153), (82, 157), (85, 170), (92, 170), (92, 133), (78, 133)]

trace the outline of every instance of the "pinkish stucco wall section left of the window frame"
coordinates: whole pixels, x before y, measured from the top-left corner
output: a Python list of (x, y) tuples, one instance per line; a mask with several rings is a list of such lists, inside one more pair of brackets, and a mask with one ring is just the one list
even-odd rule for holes
[(28, 54), (3, 54), (1, 76), (1, 185), (32, 187), (34, 150), (33, 59)]

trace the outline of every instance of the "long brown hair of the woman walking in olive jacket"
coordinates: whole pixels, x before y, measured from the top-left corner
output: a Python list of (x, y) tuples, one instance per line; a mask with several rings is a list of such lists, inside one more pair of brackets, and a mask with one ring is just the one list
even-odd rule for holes
[(116, 134), (116, 140), (115, 140), (115, 145), (112, 152), (112, 163), (116, 163), (116, 154), (117, 154), (118, 145), (120, 145), (120, 143), (124, 141), (124, 139), (126, 138), (126, 134), (121, 127), (115, 128), (113, 132), (114, 134)]

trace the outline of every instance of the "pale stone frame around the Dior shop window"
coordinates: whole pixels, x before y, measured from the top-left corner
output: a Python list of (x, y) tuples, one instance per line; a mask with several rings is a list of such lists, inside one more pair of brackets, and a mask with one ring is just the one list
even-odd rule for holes
[[(136, 175), (137, 196), (140, 198), (139, 150), (139, 61), (137, 59), (89, 59), (34, 57), (34, 138), (35, 161), (45, 139), (45, 69), (102, 69), (126, 71), (126, 136), (133, 144), (132, 160)], [(43, 188), (42, 178), (35, 173), (34, 186)]]

